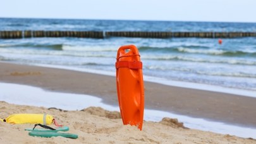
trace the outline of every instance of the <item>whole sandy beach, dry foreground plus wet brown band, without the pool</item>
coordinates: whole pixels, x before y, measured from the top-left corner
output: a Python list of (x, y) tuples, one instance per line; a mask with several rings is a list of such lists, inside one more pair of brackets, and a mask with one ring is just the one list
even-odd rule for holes
[[(72, 70), (0, 63), (0, 82), (41, 87), (47, 91), (89, 94), (107, 104), (118, 105), (114, 77)], [(194, 118), (221, 121), (233, 125), (256, 127), (256, 99), (221, 92), (145, 82), (145, 108), (183, 114)], [(1, 143), (256, 143), (252, 138), (182, 128), (171, 119), (145, 121), (143, 131), (123, 126), (118, 112), (102, 108), (83, 111), (19, 106), (1, 102), (0, 118), (13, 113), (52, 114), (59, 123), (70, 126), (79, 138), (34, 138), (25, 128), (33, 125), (1, 125)], [(164, 117), (164, 116), (163, 116)], [(19, 135), (13, 138), (13, 135)]]

